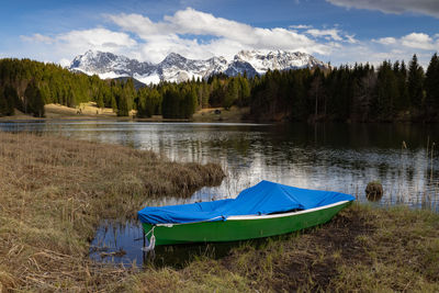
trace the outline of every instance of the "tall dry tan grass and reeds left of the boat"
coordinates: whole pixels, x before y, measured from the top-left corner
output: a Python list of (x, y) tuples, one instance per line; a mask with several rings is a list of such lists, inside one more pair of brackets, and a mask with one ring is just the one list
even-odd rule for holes
[(221, 182), (217, 165), (55, 136), (0, 133), (0, 291), (113, 291), (131, 273), (88, 260), (101, 218)]

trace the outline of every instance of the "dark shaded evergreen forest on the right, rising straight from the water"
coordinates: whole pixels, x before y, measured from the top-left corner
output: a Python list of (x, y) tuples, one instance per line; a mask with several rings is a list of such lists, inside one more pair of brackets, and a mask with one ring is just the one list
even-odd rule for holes
[(427, 71), (404, 61), (329, 70), (269, 71), (252, 81), (250, 115), (259, 121), (439, 121), (439, 59)]

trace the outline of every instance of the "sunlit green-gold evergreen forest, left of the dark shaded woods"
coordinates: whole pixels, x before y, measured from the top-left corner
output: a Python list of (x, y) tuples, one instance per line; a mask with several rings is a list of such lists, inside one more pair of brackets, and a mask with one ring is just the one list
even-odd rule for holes
[(137, 110), (139, 117), (162, 114), (165, 119), (190, 119), (201, 108), (246, 105), (249, 80), (224, 75), (135, 89), (133, 79), (101, 80), (98, 76), (71, 72), (58, 65), (30, 59), (0, 59), (0, 115), (13, 115), (14, 109), (44, 116), (44, 105), (58, 103), (75, 108), (95, 102), (112, 108), (120, 116)]

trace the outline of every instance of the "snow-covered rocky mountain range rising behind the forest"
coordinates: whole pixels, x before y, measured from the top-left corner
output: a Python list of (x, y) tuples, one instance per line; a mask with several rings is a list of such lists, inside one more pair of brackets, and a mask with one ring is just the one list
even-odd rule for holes
[(207, 60), (188, 59), (179, 54), (169, 54), (161, 63), (150, 64), (130, 59), (112, 53), (88, 50), (77, 56), (70, 64), (70, 70), (87, 75), (99, 75), (101, 78), (133, 77), (146, 84), (160, 81), (181, 82), (192, 78), (209, 78), (223, 72), (228, 76), (247, 74), (263, 75), (267, 70), (288, 70), (320, 67), (328, 65), (312, 55), (300, 52), (258, 52), (241, 50), (232, 61), (223, 57)]

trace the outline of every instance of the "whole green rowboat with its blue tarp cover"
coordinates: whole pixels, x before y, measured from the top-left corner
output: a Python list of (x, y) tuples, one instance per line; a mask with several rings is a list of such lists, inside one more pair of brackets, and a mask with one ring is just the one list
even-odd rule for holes
[(156, 245), (216, 243), (291, 233), (328, 222), (354, 198), (261, 181), (233, 200), (219, 200), (138, 212)]

